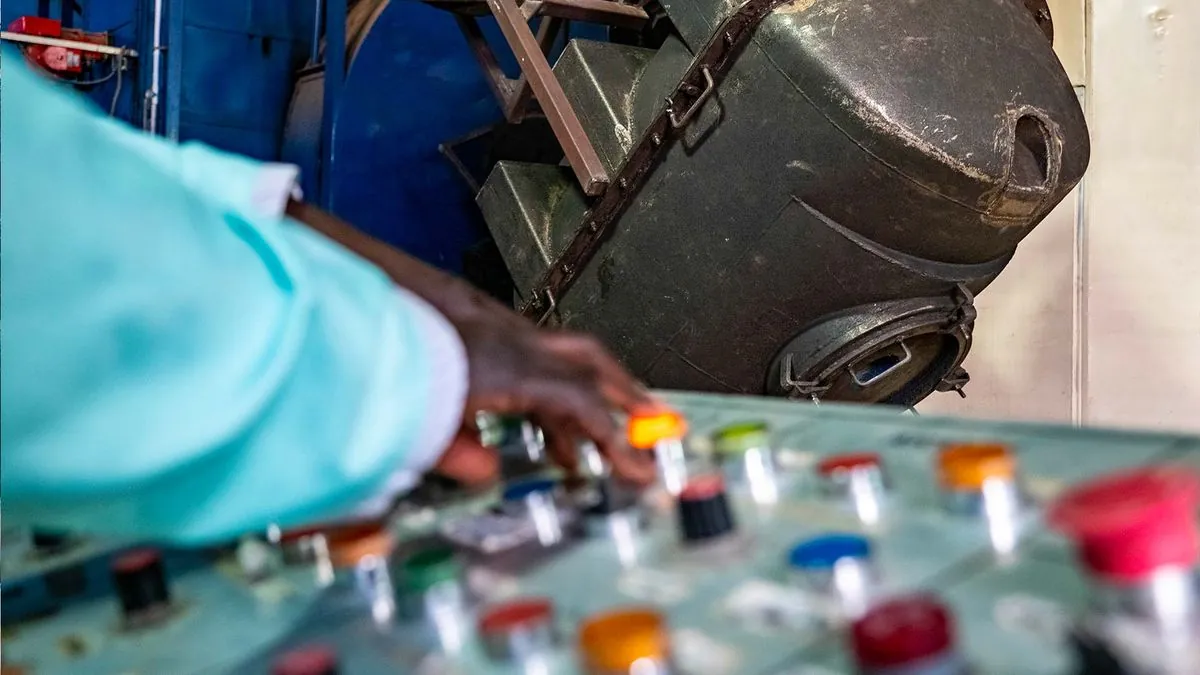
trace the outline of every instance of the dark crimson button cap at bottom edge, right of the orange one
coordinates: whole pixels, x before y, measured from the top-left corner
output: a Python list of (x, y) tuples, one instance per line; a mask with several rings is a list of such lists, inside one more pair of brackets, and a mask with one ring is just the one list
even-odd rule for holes
[(954, 620), (931, 596), (895, 598), (856, 621), (851, 641), (862, 668), (907, 665), (952, 649)]

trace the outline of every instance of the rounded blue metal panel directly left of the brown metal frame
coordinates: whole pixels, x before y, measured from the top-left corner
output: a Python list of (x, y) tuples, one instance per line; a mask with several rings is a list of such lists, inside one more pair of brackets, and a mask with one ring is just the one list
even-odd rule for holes
[(461, 271), (485, 235), (438, 144), (500, 119), (454, 19), (394, 1), (350, 65), (334, 136), (334, 213), (412, 255)]

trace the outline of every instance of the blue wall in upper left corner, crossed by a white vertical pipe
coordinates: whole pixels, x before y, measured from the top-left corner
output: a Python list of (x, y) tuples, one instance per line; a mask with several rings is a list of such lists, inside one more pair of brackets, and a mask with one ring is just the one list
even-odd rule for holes
[[(78, 0), (64, 23), (110, 31), (139, 58), (103, 84), (80, 89), (102, 109), (116, 96), (118, 118), (142, 126), (150, 88), (154, 0)], [(19, 16), (64, 18), (61, 0), (5, 0), (0, 22)], [(66, 4), (70, 6), (70, 4)], [(314, 0), (163, 0), (160, 129), (263, 160), (280, 155), (296, 68), (308, 55)], [(101, 66), (107, 72), (107, 65)], [(103, 74), (96, 73), (96, 74)], [(118, 85), (120, 89), (118, 89)]]

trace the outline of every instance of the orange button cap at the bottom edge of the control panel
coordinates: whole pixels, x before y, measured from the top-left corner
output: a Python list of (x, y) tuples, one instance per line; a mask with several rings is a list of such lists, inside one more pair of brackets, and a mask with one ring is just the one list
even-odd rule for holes
[(641, 659), (666, 663), (667, 622), (652, 609), (618, 609), (580, 625), (580, 655), (595, 675), (625, 674)]

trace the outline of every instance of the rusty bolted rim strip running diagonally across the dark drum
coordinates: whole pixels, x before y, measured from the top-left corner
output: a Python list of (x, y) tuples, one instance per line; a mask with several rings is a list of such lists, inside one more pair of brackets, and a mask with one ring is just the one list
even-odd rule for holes
[[(492, 0), (509, 1), (511, 0)], [(667, 103), (654, 118), (641, 141), (625, 159), (616, 179), (584, 216), (575, 238), (551, 264), (529, 293), (521, 312), (545, 323), (557, 309), (557, 299), (592, 261), (612, 225), (629, 207), (667, 147), (686, 126), (704, 100), (728, 72), (742, 47), (775, 7), (786, 0), (745, 0), (721, 22), (712, 38), (696, 53)]]

